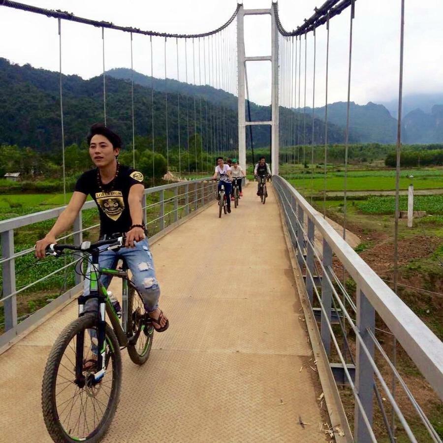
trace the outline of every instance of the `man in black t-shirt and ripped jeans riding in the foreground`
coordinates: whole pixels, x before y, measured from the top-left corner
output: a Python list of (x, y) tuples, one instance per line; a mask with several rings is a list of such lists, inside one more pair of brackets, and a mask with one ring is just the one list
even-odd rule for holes
[[(158, 332), (165, 331), (169, 321), (158, 308), (160, 287), (143, 220), (143, 174), (118, 162), (121, 139), (104, 125), (93, 125), (87, 142), (96, 168), (83, 173), (78, 179), (68, 205), (48, 234), (36, 243), (35, 255), (38, 258), (45, 257), (46, 247), (57, 243), (57, 236), (72, 226), (87, 196), (91, 195), (100, 215), (100, 238), (109, 238), (115, 233), (127, 235), (125, 247), (120, 251), (106, 251), (103, 248), (99, 255), (99, 266), (115, 268), (119, 258), (124, 258), (131, 271), (132, 282), (143, 296), (145, 309), (154, 328)], [(101, 281), (107, 287), (111, 277), (102, 275)], [(89, 294), (89, 282), (87, 277), (84, 295)], [(96, 311), (96, 304), (96, 299), (88, 300), (85, 310)]]

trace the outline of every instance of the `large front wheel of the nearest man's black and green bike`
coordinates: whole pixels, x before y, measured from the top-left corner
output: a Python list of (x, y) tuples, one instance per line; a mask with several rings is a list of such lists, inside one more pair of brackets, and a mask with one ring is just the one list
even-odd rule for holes
[[(95, 316), (76, 318), (51, 349), (43, 375), (41, 405), (54, 442), (98, 442), (114, 418), (120, 400), (122, 358), (117, 337), (108, 324), (105, 334), (106, 372), (98, 382), (94, 380), (98, 372), (94, 363)], [(76, 375), (77, 353), (82, 357), (81, 376)]]

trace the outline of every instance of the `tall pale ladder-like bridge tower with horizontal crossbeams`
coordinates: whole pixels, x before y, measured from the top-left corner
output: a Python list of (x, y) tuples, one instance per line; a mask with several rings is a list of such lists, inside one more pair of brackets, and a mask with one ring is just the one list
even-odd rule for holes
[[(244, 16), (266, 15), (271, 16), (271, 55), (246, 57)], [(240, 166), (246, 168), (246, 127), (249, 125), (271, 126), (271, 172), (279, 173), (279, 39), (274, 8), (244, 9), (240, 6), (237, 14), (237, 65), (238, 65), (238, 151)], [(271, 81), (271, 120), (267, 122), (247, 122), (245, 107), (245, 63), (266, 61), (272, 65)]]

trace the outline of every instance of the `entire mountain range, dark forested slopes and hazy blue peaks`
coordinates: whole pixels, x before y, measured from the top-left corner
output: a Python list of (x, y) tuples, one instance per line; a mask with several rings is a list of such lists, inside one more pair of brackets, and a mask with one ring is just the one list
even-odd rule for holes
[[(182, 146), (186, 146), (195, 130), (202, 133), (204, 146), (218, 144), (228, 147), (234, 143), (237, 132), (236, 96), (208, 85), (197, 86), (172, 79), (152, 79), (137, 72), (132, 73), (130, 69), (119, 68), (106, 72), (105, 76), (107, 124), (118, 131), (127, 144), (132, 139), (130, 83), (132, 75), (136, 135), (151, 137), (154, 117), (154, 135), (158, 139), (156, 146), (166, 143), (169, 146), (176, 146), (179, 137)], [(59, 82), (58, 72), (36, 69), (30, 64), (20, 66), (0, 58), (0, 144), (30, 146), (42, 152), (59, 149), (61, 140)], [(91, 123), (103, 121), (103, 77), (84, 80), (77, 75), (63, 75), (62, 86), (65, 143), (80, 144)], [(250, 105), (251, 120), (270, 119), (270, 106), (260, 106), (255, 103)], [(152, 114), (153, 108), (154, 114)], [(346, 102), (328, 105), (329, 143), (344, 141), (346, 108)], [(281, 130), (285, 121), (293, 122), (294, 139), (311, 143), (312, 109), (298, 111), (280, 108)], [(321, 144), (324, 142), (324, 107), (315, 108), (314, 115), (315, 142)], [(304, 127), (306, 127), (304, 133), (301, 134), (300, 131)], [(396, 127), (396, 119), (385, 106), (372, 102), (366, 105), (350, 103), (349, 141), (351, 143), (394, 143)], [(269, 146), (269, 127), (253, 126), (253, 141), (257, 147)], [(442, 141), (443, 105), (434, 104), (430, 108), (430, 113), (416, 109), (405, 115), (404, 143)], [(247, 142), (249, 143), (249, 136)]]

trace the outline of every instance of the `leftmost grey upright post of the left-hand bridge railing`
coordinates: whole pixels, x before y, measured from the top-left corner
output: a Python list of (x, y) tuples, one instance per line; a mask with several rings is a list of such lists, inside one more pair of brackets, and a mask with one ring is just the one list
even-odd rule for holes
[[(9, 258), (14, 255), (14, 230), (1, 233), (1, 257)], [(15, 292), (15, 258), (5, 261), (3, 268), (3, 297)], [(3, 302), (4, 330), (17, 326), (17, 297), (13, 295)]]

